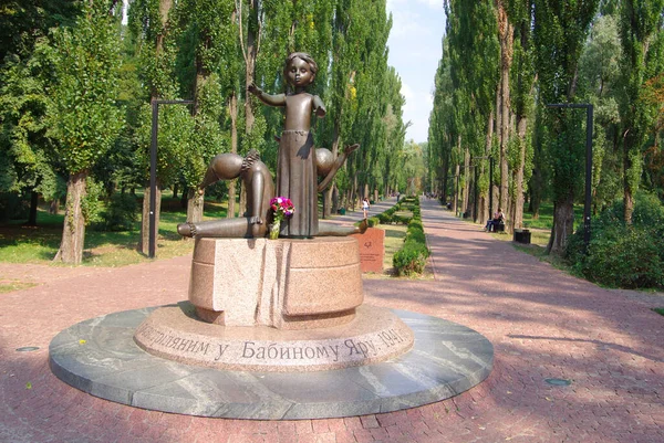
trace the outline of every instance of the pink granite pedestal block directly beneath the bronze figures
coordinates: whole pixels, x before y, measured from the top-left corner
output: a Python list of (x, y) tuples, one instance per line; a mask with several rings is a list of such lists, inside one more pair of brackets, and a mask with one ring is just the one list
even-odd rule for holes
[(351, 321), (363, 299), (354, 238), (196, 239), (189, 302), (204, 321), (326, 328)]

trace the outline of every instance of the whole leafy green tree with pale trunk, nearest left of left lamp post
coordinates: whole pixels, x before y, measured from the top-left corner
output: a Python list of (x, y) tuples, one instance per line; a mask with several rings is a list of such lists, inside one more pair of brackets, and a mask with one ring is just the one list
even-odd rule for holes
[(83, 259), (86, 179), (123, 126), (122, 110), (115, 104), (117, 27), (110, 11), (106, 1), (89, 2), (72, 29), (55, 33), (49, 114), (69, 181), (62, 242), (54, 260), (65, 263)]

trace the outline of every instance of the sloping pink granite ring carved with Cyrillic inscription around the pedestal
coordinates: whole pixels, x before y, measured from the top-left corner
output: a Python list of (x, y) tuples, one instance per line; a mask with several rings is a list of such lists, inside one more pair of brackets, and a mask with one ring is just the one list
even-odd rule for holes
[(385, 361), (413, 346), (413, 331), (391, 310), (363, 305), (355, 318), (328, 328), (284, 330), (219, 326), (180, 303), (156, 309), (137, 328), (136, 344), (157, 357), (225, 370), (309, 372)]

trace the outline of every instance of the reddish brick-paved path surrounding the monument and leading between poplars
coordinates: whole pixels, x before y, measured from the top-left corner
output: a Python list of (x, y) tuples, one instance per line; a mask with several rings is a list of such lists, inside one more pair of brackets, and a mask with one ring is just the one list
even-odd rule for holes
[[(434, 200), (422, 208), (435, 278), (365, 279), (366, 302), (489, 338), (494, 370), (474, 389), (406, 411), (281, 422), (112, 403), (51, 375), (50, 340), (91, 317), (186, 298), (190, 259), (120, 268), (0, 264), (0, 279), (42, 283), (0, 294), (0, 442), (664, 442), (664, 317), (651, 310), (664, 306), (661, 295), (600, 288)], [(17, 352), (22, 346), (40, 349)]]

